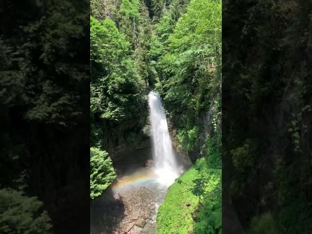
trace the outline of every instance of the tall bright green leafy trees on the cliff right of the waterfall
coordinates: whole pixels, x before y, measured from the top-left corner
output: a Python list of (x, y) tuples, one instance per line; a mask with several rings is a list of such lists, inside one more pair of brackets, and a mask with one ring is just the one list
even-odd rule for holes
[(149, 56), (179, 147), (195, 161), (204, 136), (221, 131), (221, 1), (186, 3), (174, 0), (164, 11)]

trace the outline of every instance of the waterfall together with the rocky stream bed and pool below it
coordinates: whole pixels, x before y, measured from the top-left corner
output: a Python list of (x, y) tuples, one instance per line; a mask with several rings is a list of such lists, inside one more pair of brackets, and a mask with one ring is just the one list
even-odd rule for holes
[[(122, 173), (91, 211), (92, 234), (155, 234), (157, 209), (168, 187), (189, 166), (172, 146), (161, 98), (150, 92), (148, 103), (151, 147), (123, 156), (131, 161), (124, 161)], [(153, 158), (153, 165), (135, 164), (138, 158)], [(134, 225), (138, 218), (146, 221), (144, 228)]]

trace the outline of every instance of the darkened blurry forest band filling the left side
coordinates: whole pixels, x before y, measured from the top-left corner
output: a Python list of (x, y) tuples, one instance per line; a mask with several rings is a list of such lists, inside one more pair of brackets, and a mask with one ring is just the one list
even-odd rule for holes
[(89, 2), (75, 3), (0, 2), (2, 234), (88, 232)]

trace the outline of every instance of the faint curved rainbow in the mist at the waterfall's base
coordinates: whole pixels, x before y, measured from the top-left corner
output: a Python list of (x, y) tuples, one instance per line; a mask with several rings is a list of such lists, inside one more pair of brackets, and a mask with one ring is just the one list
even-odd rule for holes
[(156, 174), (152, 171), (138, 171), (130, 176), (122, 176), (117, 179), (112, 185), (112, 190), (114, 193), (125, 187), (132, 187), (144, 184), (146, 182), (151, 182), (156, 179)]

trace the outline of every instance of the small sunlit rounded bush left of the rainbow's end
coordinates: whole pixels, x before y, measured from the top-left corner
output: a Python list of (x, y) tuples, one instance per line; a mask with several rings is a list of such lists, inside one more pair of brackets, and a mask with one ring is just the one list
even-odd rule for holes
[(94, 199), (116, 178), (112, 160), (105, 151), (90, 148), (90, 197)]

